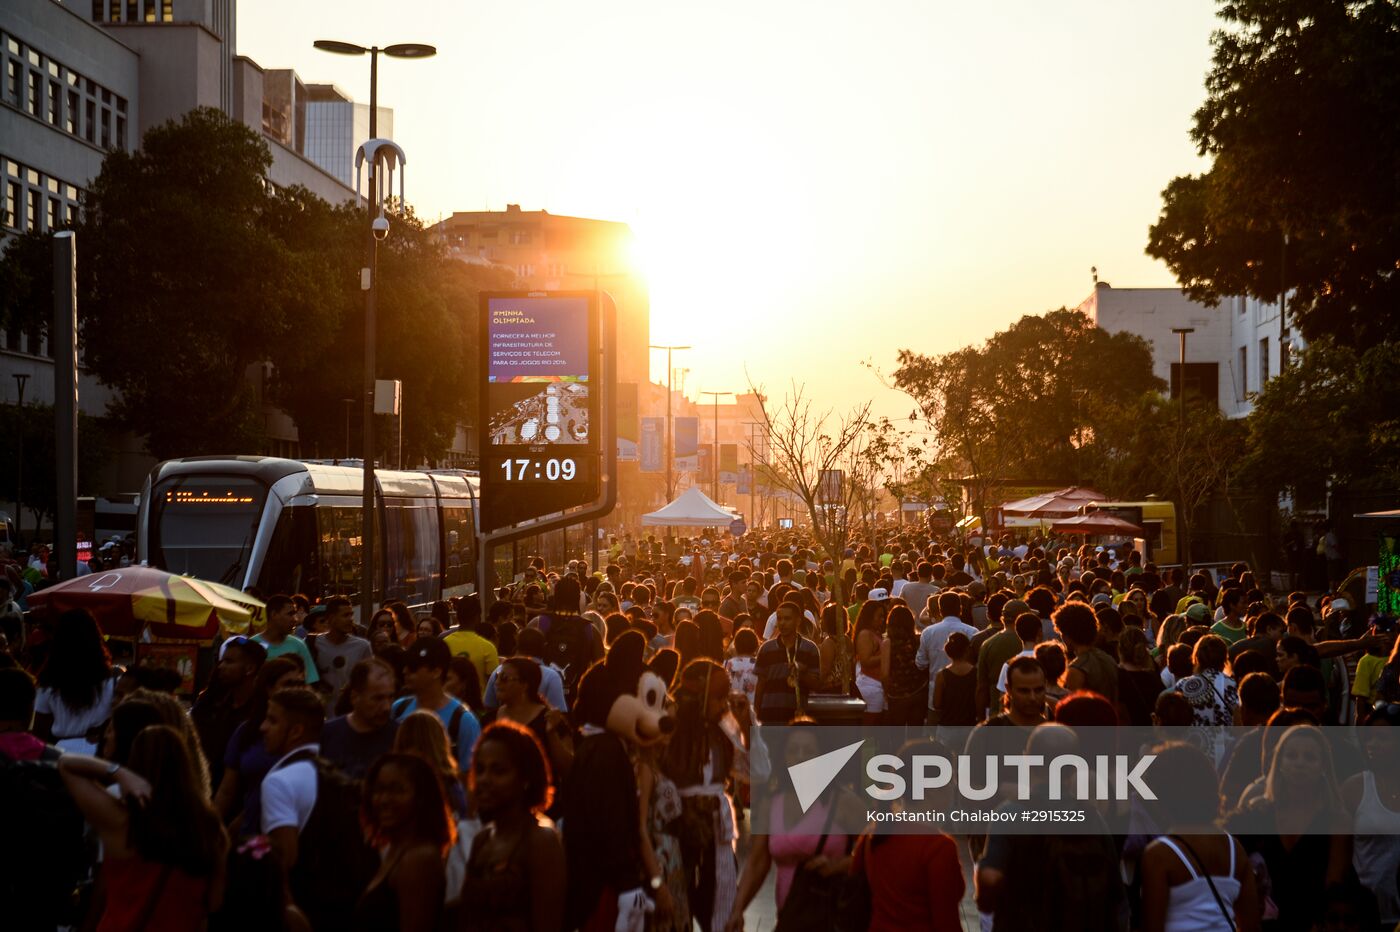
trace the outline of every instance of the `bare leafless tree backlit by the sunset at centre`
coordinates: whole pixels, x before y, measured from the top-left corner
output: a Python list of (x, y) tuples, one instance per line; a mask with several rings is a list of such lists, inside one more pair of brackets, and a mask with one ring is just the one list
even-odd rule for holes
[[(769, 481), (802, 501), (822, 550), (840, 563), (854, 526), (853, 512), (869, 484), (869, 459), (862, 455), (869, 402), (836, 414), (815, 410), (798, 382), (792, 382), (781, 404), (771, 402), (762, 388), (750, 385), (749, 390), (757, 396), (763, 414)], [(840, 481), (832, 481), (836, 474)]]

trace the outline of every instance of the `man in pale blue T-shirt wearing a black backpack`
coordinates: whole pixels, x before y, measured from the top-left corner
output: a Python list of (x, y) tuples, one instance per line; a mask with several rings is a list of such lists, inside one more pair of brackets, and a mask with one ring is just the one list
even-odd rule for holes
[(262, 782), (262, 830), (311, 928), (343, 929), (378, 868), (360, 831), (360, 785), (319, 757), (325, 705), (309, 689), (267, 700), (262, 735), (277, 763)]

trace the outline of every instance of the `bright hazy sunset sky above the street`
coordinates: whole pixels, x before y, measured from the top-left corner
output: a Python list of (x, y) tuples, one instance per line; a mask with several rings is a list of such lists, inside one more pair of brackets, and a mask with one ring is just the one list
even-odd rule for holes
[[(790, 378), (910, 407), (860, 362), (980, 341), (1075, 305), (1089, 267), (1175, 284), (1142, 248), (1200, 171), (1211, 0), (242, 0), (238, 50), (368, 101), (368, 59), (428, 42), (379, 101), (430, 220), (629, 223), (654, 343), (700, 389)], [(679, 360), (680, 357), (678, 357)], [(665, 378), (655, 354), (652, 374)]]

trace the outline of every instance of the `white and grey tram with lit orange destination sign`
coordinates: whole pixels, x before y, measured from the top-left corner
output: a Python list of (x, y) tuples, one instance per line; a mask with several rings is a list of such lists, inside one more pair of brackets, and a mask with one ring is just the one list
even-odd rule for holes
[[(476, 591), (480, 483), (461, 470), (375, 470), (375, 603), (410, 606)], [(137, 514), (137, 558), (312, 599), (361, 591), (358, 465), (273, 456), (192, 456), (158, 465)]]

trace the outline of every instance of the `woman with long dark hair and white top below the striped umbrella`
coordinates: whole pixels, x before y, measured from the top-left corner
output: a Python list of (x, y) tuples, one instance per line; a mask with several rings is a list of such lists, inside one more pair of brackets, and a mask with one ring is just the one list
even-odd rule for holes
[(66, 751), (97, 754), (112, 716), (116, 673), (102, 628), (83, 610), (64, 612), (53, 626), (49, 659), (39, 670), (34, 733)]

